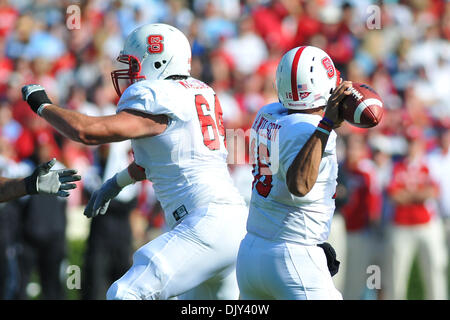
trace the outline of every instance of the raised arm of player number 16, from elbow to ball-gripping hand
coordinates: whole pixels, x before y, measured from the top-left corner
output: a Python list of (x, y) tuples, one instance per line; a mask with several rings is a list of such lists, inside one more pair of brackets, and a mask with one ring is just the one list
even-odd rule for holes
[(333, 128), (341, 122), (339, 102), (351, 92), (350, 81), (342, 82), (328, 100), (325, 117), (305, 145), (298, 152), (286, 173), (286, 184), (289, 192), (297, 197), (304, 197), (311, 191), (319, 175), (320, 161), (322, 160), (328, 136)]

